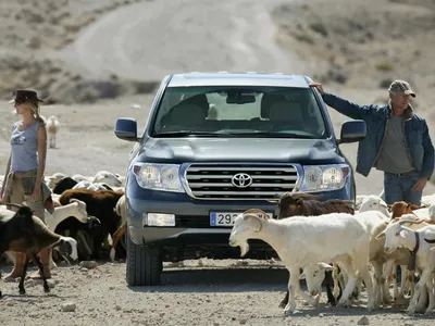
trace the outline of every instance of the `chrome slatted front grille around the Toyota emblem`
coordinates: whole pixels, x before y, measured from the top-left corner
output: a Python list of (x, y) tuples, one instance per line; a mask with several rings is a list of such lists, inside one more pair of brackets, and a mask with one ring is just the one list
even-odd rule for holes
[[(240, 178), (245, 184), (240, 187)], [(290, 164), (191, 164), (186, 170), (189, 195), (196, 199), (272, 200), (298, 185)], [(251, 183), (246, 187), (247, 184)]]

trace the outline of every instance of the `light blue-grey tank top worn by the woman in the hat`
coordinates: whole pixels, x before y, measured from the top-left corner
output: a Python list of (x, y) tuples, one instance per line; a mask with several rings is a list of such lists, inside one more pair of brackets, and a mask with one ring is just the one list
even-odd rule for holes
[(25, 172), (38, 168), (38, 141), (37, 131), (40, 122), (35, 122), (27, 129), (20, 131), (21, 122), (12, 126), (11, 146), (11, 171)]

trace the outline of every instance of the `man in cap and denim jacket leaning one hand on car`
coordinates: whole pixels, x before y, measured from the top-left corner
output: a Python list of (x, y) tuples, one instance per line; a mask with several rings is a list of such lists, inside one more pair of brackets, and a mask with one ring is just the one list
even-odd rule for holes
[(368, 134), (358, 147), (357, 172), (368, 176), (374, 166), (384, 171), (387, 204), (407, 201), (421, 204), (423, 189), (434, 171), (434, 147), (426, 121), (412, 110), (415, 92), (409, 83), (395, 80), (388, 88), (388, 104), (358, 105), (324, 92), (311, 83), (324, 102), (338, 112), (365, 121)]

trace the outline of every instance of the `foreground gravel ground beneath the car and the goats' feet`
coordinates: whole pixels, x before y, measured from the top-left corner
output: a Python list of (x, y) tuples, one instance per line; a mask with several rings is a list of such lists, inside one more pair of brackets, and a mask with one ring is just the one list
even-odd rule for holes
[[(60, 266), (51, 292), (26, 280), (2, 284), (0, 325), (433, 325), (433, 317), (411, 317), (405, 305), (365, 311), (365, 293), (350, 309), (318, 309), (298, 300), (299, 311), (284, 316), (288, 273), (272, 261), (186, 261), (165, 263), (162, 285), (128, 288), (124, 263), (101, 262), (95, 269)], [(70, 311), (71, 310), (71, 311)]]

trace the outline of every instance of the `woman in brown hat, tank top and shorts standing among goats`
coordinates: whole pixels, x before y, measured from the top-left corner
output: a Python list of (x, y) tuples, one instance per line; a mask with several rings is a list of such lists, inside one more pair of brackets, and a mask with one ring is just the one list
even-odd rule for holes
[[(23, 203), (32, 208), (34, 214), (44, 221), (45, 204), (52, 212), (51, 191), (44, 183), (47, 153), (47, 130), (44, 118), (39, 115), (36, 91), (17, 90), (14, 103), (21, 121), (12, 126), (11, 154), (9, 156), (4, 181), (1, 189), (3, 203)], [(12, 209), (13, 208), (9, 208)], [(51, 251), (46, 248), (40, 253), (46, 278), (51, 277), (49, 259)], [(4, 278), (21, 277), (26, 262), (26, 254), (15, 253), (13, 271)], [(39, 271), (30, 277), (40, 278)]]

